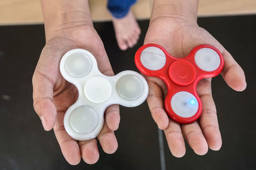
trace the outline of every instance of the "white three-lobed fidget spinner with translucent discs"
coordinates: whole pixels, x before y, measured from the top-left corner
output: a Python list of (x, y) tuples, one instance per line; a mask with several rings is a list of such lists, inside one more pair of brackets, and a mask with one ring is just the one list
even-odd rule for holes
[(95, 138), (104, 124), (104, 112), (111, 104), (138, 106), (148, 96), (147, 81), (135, 71), (115, 76), (100, 73), (92, 53), (74, 49), (63, 55), (60, 73), (77, 87), (79, 96), (65, 113), (64, 127), (74, 139)]

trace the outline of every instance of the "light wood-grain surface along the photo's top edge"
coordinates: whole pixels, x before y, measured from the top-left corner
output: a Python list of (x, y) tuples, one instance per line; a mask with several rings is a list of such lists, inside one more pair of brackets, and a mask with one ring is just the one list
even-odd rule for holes
[[(138, 19), (150, 17), (153, 0), (138, 0), (132, 7)], [(107, 0), (90, 0), (90, 9), (94, 21), (111, 20), (106, 9)], [(256, 13), (255, 0), (201, 0), (198, 9), (200, 17), (216, 15), (244, 15)], [(36, 24), (42, 23), (40, 0), (1, 0), (0, 24)]]

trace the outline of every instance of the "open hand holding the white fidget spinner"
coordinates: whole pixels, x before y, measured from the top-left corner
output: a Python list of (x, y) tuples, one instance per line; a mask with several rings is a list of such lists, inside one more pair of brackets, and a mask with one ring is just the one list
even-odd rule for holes
[(76, 87), (61, 76), (59, 64), (68, 50), (83, 48), (95, 56), (103, 74), (113, 76), (108, 56), (92, 24), (83, 21), (65, 24), (51, 34), (47, 32), (46, 39), (33, 75), (35, 111), (41, 118), (45, 131), (50, 131), (53, 127), (61, 152), (69, 164), (78, 164), (81, 157), (86, 163), (94, 164), (99, 159), (97, 139), (106, 153), (114, 153), (118, 147), (113, 132), (118, 129), (120, 122), (118, 105), (109, 106), (106, 110), (106, 122), (97, 139), (72, 139), (65, 131), (63, 117), (70, 105), (76, 102), (78, 94)]

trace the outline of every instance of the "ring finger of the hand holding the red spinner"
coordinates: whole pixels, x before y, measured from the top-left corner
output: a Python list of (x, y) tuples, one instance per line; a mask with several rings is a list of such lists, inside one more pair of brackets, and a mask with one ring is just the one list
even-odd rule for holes
[(186, 147), (180, 125), (170, 119), (168, 127), (164, 130), (164, 134), (172, 155), (183, 157), (186, 153)]

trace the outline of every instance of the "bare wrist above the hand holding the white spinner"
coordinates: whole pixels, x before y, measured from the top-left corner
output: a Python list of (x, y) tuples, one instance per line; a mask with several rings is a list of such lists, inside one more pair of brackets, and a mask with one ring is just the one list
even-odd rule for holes
[(42, 0), (45, 39), (69, 37), (74, 29), (93, 28), (88, 1)]

